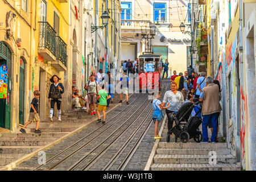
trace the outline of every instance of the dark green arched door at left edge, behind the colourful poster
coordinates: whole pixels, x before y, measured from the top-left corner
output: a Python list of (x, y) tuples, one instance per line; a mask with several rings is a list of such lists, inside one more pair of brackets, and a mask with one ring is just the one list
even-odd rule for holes
[[(6, 81), (7, 94), (6, 94), (6, 98), (3, 98), (2, 96), (0, 96), (0, 127), (4, 127), (10, 130), (10, 126), (11, 126), (11, 51), (9, 47), (3, 42), (0, 42), (0, 65), (7, 66), (7, 81)], [(1, 92), (2, 92), (2, 89), (1, 89)]]

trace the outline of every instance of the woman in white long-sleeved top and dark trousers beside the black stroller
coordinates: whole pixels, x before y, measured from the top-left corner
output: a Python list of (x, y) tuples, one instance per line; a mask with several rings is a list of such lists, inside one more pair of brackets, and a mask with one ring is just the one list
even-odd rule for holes
[[(166, 109), (166, 114), (168, 118), (168, 130), (172, 128), (172, 125), (174, 124), (174, 120), (172, 119), (172, 113), (174, 111), (177, 111), (180, 109), (181, 104), (184, 102), (183, 94), (176, 90), (177, 84), (176, 82), (171, 83), (171, 90), (168, 90), (164, 94), (163, 98), (163, 106), (166, 106), (167, 103), (170, 104), (170, 107)], [(172, 137), (172, 134), (170, 133), (170, 137)]]

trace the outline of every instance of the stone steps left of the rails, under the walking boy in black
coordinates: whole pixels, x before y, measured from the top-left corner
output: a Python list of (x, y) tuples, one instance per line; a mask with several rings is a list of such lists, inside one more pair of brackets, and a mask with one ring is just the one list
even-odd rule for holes
[[(125, 97), (123, 97), (125, 98)], [(115, 94), (114, 104), (108, 107), (107, 112), (119, 105), (119, 96)], [(61, 121), (53, 117), (49, 120), (40, 121), (40, 134), (35, 134), (36, 123), (31, 123), (26, 128), (26, 134), (20, 133), (20, 127), (14, 129), (13, 133), (0, 132), (0, 171), (7, 164), (15, 162), (32, 152), (45, 148), (57, 140), (65, 139), (75, 130), (86, 127), (97, 119), (96, 115), (89, 115), (85, 110), (69, 110), (61, 114)], [(78, 131), (79, 130), (79, 131)]]

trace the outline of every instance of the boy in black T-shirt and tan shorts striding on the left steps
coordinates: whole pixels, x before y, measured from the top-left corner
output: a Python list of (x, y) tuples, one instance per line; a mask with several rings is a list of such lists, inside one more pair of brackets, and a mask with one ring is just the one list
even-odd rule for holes
[(30, 104), (31, 108), (30, 108), (30, 115), (28, 117), (28, 122), (19, 130), (21, 133), (26, 133), (26, 130), (24, 130), (31, 122), (33, 122), (33, 120), (35, 119), (36, 121), (36, 129), (35, 129), (35, 133), (41, 133), (41, 131), (38, 129), (39, 127), (39, 122), (40, 122), (40, 118), (39, 118), (39, 114), (38, 114), (38, 98), (40, 97), (40, 92), (39, 90), (35, 90), (34, 91), (34, 98)]

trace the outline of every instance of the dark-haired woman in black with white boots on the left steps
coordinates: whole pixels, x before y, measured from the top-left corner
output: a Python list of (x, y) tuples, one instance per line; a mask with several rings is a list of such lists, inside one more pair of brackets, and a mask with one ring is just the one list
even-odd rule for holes
[(57, 110), (58, 110), (58, 115), (59, 119), (58, 121), (61, 121), (61, 110), (60, 110), (60, 105), (61, 105), (61, 94), (64, 93), (64, 86), (63, 84), (59, 83), (60, 78), (57, 75), (53, 75), (50, 79), (52, 82), (50, 89), (49, 89), (49, 94), (48, 94), (48, 100), (51, 102), (51, 110), (50, 110), (50, 115), (49, 118), (52, 121), (52, 115), (53, 115), (53, 109), (55, 102), (57, 103)]

